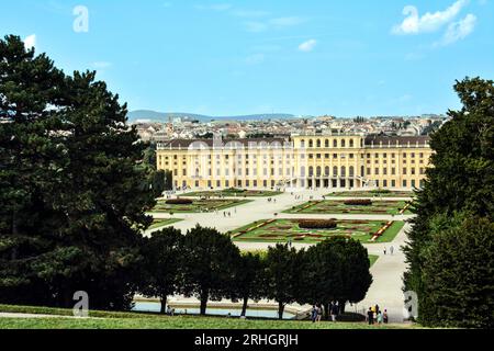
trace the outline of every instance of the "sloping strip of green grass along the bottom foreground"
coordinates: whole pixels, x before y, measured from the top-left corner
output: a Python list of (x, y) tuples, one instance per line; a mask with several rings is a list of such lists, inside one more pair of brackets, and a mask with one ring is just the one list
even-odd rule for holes
[(0, 318), (0, 329), (403, 329), (416, 325), (369, 326), (366, 322), (260, 320), (226, 317), (161, 316), (142, 313), (90, 312), (90, 318), (70, 317), (70, 309), (0, 305), (0, 313), (52, 317)]

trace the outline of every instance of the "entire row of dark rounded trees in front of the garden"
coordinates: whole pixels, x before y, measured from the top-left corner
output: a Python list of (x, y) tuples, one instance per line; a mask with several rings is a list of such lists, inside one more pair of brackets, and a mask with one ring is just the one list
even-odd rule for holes
[[(267, 298), (279, 305), (282, 318), (287, 304), (322, 304), (326, 316), (330, 302), (357, 303), (372, 282), (367, 249), (351, 239), (326, 240), (307, 250), (284, 245), (267, 253), (244, 253), (228, 236), (200, 226), (186, 236), (175, 228), (154, 233), (143, 244), (138, 291), (159, 297), (165, 312), (167, 297), (195, 296), (201, 314), (209, 301), (243, 302)], [(344, 312), (344, 310), (343, 310)]]

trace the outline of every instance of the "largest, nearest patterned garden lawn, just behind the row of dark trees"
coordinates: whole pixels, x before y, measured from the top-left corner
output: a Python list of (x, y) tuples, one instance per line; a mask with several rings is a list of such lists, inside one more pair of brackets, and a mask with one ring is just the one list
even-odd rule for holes
[(317, 244), (330, 237), (350, 237), (362, 244), (391, 242), (405, 225), (404, 222), (394, 222), (393, 225), (375, 241), (370, 241), (381, 229), (385, 220), (346, 219), (336, 220), (334, 229), (303, 229), (299, 226), (300, 219), (270, 219), (258, 220), (228, 233), (237, 242), (300, 242)]

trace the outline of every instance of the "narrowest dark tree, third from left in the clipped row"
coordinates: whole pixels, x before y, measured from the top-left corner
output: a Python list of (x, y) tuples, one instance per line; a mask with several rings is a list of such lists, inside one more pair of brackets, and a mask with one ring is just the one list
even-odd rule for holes
[(265, 261), (259, 253), (247, 252), (239, 257), (235, 265), (234, 298), (243, 301), (242, 314), (245, 317), (249, 299), (260, 299), (263, 294)]

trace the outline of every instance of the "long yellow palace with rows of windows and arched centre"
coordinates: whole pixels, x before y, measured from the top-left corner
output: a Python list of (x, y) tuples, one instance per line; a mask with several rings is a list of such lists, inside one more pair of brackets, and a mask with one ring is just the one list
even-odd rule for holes
[(414, 189), (431, 152), (427, 136), (216, 137), (160, 143), (157, 167), (176, 189)]

